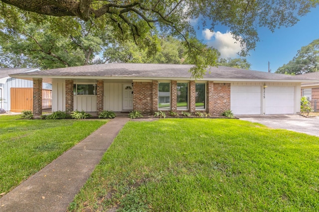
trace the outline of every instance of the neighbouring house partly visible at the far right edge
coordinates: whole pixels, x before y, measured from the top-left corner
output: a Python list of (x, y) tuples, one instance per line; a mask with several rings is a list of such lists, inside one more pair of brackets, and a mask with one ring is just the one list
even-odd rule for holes
[(297, 75), (297, 77), (306, 77), (310, 80), (317, 80), (317, 82), (302, 83), (301, 88), (302, 96), (308, 97), (311, 101), (312, 108), (315, 111), (319, 111), (319, 72)]

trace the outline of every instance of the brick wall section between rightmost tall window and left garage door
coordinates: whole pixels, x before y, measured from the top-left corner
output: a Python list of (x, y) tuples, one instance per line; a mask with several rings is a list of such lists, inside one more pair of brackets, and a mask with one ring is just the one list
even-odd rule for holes
[(214, 83), (213, 86), (213, 114), (230, 110), (230, 83)]

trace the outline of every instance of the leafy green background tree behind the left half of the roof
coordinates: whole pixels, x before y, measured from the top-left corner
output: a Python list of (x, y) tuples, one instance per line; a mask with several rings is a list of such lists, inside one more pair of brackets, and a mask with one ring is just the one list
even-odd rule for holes
[[(48, 69), (88, 65), (111, 39), (98, 24), (74, 17), (40, 18), (18, 9), (11, 9), (10, 18), (0, 17), (2, 67)], [(66, 24), (73, 27), (61, 29)]]

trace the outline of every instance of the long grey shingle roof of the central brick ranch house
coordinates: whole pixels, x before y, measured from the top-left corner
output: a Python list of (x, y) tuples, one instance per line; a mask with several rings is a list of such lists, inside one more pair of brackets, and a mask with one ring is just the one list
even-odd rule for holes
[[(98, 78), (98, 79), (190, 79), (188, 71), (193, 65), (180, 64), (137, 64), (108, 63), (27, 72), (12, 75), (18, 78)], [(232, 67), (211, 67), (202, 80), (263, 80), (263, 81), (311, 81), (308, 78), (237, 69)]]

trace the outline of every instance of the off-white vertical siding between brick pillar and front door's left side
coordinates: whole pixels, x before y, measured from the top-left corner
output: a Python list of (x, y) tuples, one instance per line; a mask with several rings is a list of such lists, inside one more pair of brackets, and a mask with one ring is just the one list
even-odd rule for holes
[(104, 109), (122, 111), (123, 84), (104, 83)]

